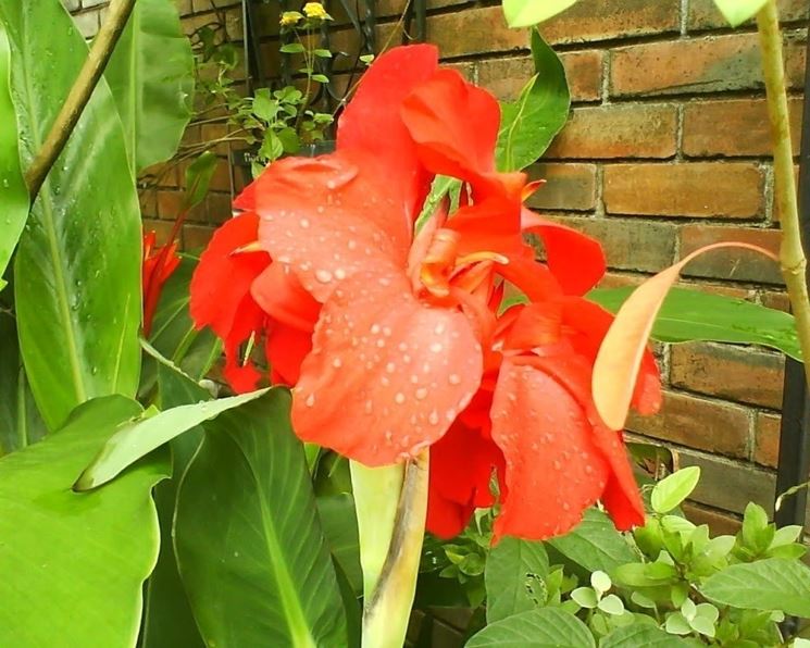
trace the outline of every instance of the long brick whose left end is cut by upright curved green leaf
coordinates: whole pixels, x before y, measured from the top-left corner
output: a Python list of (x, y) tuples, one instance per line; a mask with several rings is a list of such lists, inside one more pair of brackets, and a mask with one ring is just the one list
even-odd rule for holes
[(614, 104), (577, 108), (549, 158), (671, 158), (677, 148), (674, 105)]

